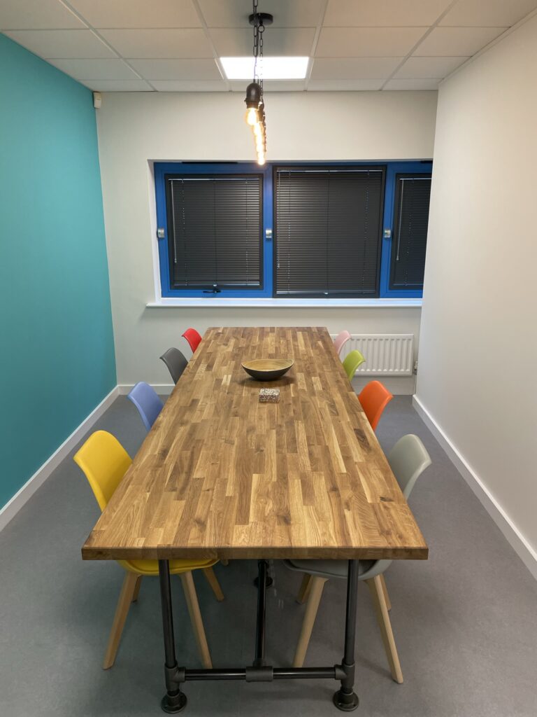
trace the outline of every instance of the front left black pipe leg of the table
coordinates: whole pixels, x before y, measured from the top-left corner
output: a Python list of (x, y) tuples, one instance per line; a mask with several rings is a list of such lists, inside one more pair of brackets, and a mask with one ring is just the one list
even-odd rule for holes
[(160, 579), (160, 605), (163, 613), (164, 655), (166, 694), (160, 706), (168, 714), (175, 714), (185, 708), (186, 695), (180, 690), (180, 683), (184, 681), (175, 658), (175, 637), (173, 635), (172, 592), (170, 586), (170, 565), (167, 560), (158, 561), (158, 575)]

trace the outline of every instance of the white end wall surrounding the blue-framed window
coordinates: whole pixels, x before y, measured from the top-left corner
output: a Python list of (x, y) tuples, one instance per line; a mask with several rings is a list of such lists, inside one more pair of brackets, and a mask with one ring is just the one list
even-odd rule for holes
[[(435, 92), (271, 93), (269, 160), (432, 157)], [(420, 308), (146, 308), (155, 300), (150, 161), (253, 159), (240, 93), (110, 93), (97, 111), (117, 377), (169, 384), (163, 351), (187, 326), (316, 325), (414, 333)], [(188, 353), (186, 351), (185, 353)], [(412, 393), (413, 381), (392, 390)]]

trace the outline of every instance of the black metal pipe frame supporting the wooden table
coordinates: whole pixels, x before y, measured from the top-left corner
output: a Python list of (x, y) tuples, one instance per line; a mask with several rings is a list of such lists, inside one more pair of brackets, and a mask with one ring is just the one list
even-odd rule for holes
[(273, 680), (333, 679), (341, 682), (334, 693), (334, 705), (344, 712), (351, 712), (358, 706), (358, 697), (354, 693), (354, 642), (356, 637), (356, 608), (358, 590), (357, 560), (349, 560), (347, 577), (347, 610), (345, 614), (345, 639), (341, 665), (327, 668), (274, 668), (265, 664), (265, 607), (267, 562), (258, 561), (258, 598), (256, 622), (256, 650), (253, 664), (244, 668), (223, 668), (190, 670), (180, 668), (175, 656), (175, 636), (173, 633), (172, 596), (170, 585), (170, 566), (168, 560), (158, 561), (160, 576), (160, 601), (163, 613), (165, 684), (166, 694), (160, 706), (168, 714), (182, 711), (187, 703), (181, 685), (189, 680), (246, 680), (246, 682), (272, 682)]

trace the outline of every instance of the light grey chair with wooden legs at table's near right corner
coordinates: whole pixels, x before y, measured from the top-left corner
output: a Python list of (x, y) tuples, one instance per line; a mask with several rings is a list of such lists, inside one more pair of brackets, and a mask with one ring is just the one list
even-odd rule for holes
[[(397, 441), (388, 456), (388, 462), (405, 498), (410, 495), (417, 478), (431, 465), (430, 455), (425, 450), (425, 446), (413, 434), (403, 436)], [(402, 683), (401, 665), (388, 614), (391, 607), (390, 598), (383, 576), (391, 562), (391, 560), (361, 560), (358, 579), (364, 580), (371, 592), (392, 678), (395, 682)], [(346, 560), (286, 560), (284, 563), (291, 570), (304, 573), (297, 601), (304, 602), (307, 599), (306, 612), (293, 661), (293, 667), (301, 668), (306, 657), (324, 583), (330, 578), (346, 579), (348, 563)]]

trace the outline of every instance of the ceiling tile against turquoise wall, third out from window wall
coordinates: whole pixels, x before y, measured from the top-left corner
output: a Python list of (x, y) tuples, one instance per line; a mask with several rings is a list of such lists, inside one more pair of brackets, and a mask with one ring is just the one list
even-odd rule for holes
[(91, 30), (9, 30), (14, 39), (40, 57), (115, 57)]

